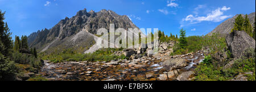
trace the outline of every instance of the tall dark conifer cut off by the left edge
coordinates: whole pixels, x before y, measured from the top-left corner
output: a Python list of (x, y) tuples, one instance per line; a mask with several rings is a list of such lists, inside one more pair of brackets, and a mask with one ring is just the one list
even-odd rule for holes
[(13, 49), (10, 29), (3, 22), (5, 12), (0, 10), (0, 80), (10, 80), (16, 72), (15, 63), (10, 60)]

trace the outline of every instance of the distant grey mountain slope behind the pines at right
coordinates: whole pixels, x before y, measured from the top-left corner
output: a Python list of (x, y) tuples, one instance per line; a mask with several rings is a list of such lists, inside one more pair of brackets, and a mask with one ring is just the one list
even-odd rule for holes
[[(212, 33), (220, 33), (220, 34), (224, 34), (227, 35), (231, 32), (231, 30), (234, 27), (234, 21), (236, 19), (238, 15), (233, 16), (232, 18), (224, 21), (223, 23), (221, 23), (220, 25), (218, 25), (218, 27), (216, 27), (215, 29), (212, 30), (212, 32), (208, 33), (208, 35), (212, 35)], [(242, 15), (243, 17), (245, 17), (245, 15)], [(254, 24), (254, 19), (255, 19), (255, 12), (251, 13), (248, 15), (249, 19), (250, 19), (250, 23), (251, 25)], [(254, 25), (253, 25), (254, 27)]]

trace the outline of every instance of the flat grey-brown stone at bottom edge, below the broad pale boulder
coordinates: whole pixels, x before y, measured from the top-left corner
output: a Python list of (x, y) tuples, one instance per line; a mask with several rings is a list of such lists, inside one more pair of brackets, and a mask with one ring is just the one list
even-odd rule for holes
[(187, 71), (187, 72), (181, 73), (176, 79), (179, 81), (189, 81), (189, 78), (193, 77), (193, 75), (195, 75), (194, 72)]

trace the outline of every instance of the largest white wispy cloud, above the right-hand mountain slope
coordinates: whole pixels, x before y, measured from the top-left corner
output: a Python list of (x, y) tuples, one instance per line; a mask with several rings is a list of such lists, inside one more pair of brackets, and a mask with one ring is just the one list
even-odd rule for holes
[(201, 23), (201, 21), (219, 22), (228, 17), (232, 17), (232, 15), (224, 15), (224, 11), (229, 9), (230, 7), (226, 8), (226, 6), (222, 8), (217, 8), (216, 10), (213, 10), (210, 14), (207, 14), (207, 16), (188, 15), (187, 17), (182, 19), (182, 21), (189, 21), (191, 24)]

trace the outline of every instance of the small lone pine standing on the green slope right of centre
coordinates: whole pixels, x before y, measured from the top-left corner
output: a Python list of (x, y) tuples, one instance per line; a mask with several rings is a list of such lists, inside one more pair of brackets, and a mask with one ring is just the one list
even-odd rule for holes
[(183, 30), (183, 28), (180, 30), (180, 39), (179, 39), (179, 46), (181, 49), (185, 49), (187, 46), (187, 40), (185, 38), (186, 36), (186, 30)]

